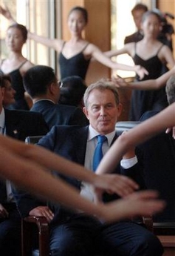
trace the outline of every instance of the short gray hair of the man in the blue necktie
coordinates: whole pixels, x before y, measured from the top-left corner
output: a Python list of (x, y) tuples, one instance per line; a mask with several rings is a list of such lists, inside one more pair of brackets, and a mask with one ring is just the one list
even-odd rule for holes
[(116, 105), (120, 103), (117, 87), (107, 79), (100, 79), (99, 81), (93, 83), (92, 85), (89, 85), (84, 93), (83, 102), (86, 108), (88, 108), (89, 94), (95, 89), (99, 91), (110, 90), (114, 94)]

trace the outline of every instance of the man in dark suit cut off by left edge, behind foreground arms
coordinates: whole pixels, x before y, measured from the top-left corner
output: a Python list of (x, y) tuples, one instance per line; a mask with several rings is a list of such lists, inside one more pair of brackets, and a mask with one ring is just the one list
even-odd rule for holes
[[(4, 79), (0, 76), (1, 134), (23, 141), (27, 136), (47, 134), (48, 127), (41, 114), (4, 109), (3, 96)], [(0, 254), (1, 256), (21, 255), (21, 217), (8, 180), (0, 180)]]

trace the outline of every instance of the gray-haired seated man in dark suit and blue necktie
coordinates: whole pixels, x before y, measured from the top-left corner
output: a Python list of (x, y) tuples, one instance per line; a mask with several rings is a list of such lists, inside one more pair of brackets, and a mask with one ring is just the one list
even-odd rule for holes
[[(54, 126), (38, 145), (92, 169), (97, 136), (105, 135), (102, 146), (105, 154), (117, 138), (115, 124), (122, 106), (119, 103), (117, 88), (104, 81), (90, 85), (86, 89), (84, 102), (83, 111), (89, 119), (89, 126)], [(140, 188), (145, 188), (142, 170), (134, 149), (131, 148), (123, 156), (115, 172), (131, 177), (140, 184)], [(62, 178), (79, 188), (83, 197), (95, 200), (95, 194), (88, 184), (69, 177)], [(89, 256), (95, 253), (105, 256), (162, 255), (162, 246), (157, 237), (130, 220), (108, 225), (80, 211), (71, 212), (61, 205), (49, 207), (46, 202), (44, 204), (36, 198), (32, 200), (30, 197), (29, 200), (23, 191), (16, 191), (16, 200), (23, 216), (47, 217), (50, 222), (50, 250), (54, 256)]]

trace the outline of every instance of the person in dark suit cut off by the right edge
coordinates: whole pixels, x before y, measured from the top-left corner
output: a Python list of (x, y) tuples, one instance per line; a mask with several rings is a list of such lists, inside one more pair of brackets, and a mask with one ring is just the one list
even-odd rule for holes
[[(168, 104), (175, 102), (175, 75), (172, 75), (165, 87)], [(151, 118), (159, 111), (147, 111), (140, 121)], [(145, 182), (148, 188), (159, 191), (160, 197), (167, 202), (161, 214), (154, 220), (157, 222), (175, 220), (175, 140), (171, 133), (161, 134), (151, 138), (139, 147), (143, 154)]]

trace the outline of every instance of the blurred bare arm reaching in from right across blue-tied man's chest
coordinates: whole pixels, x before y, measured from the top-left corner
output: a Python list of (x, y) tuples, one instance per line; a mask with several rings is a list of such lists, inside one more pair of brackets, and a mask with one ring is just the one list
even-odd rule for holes
[(160, 131), (165, 130), (167, 127), (173, 127), (174, 125), (175, 103), (165, 108), (165, 110), (161, 111), (156, 116), (151, 117), (135, 128), (127, 131), (125, 134), (122, 134), (103, 157), (96, 173), (103, 174), (108, 170), (113, 170), (123, 157), (123, 154), (128, 151), (128, 148), (132, 148), (140, 142), (144, 142), (155, 134), (158, 134)]

